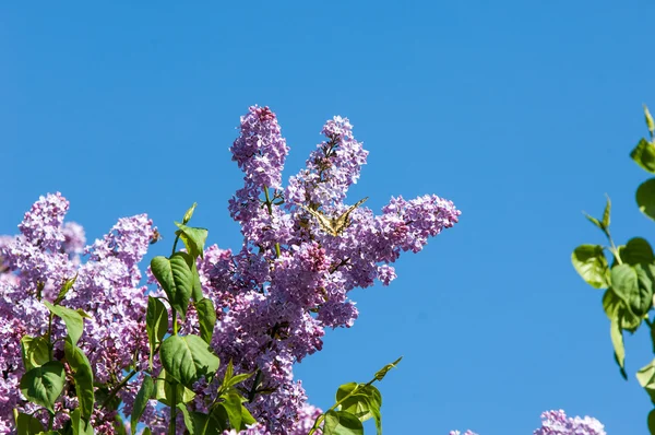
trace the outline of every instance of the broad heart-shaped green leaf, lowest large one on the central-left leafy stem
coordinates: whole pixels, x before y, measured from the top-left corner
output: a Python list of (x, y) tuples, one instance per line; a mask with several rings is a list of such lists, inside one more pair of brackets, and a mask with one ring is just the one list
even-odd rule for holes
[(207, 343), (198, 336), (170, 336), (159, 348), (162, 365), (180, 384), (190, 387), (200, 379), (216, 373), (219, 360)]

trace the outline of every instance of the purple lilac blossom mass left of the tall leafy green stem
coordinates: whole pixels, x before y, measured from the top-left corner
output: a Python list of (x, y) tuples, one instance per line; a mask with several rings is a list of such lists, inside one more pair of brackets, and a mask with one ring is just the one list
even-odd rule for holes
[[(83, 228), (63, 223), (68, 210), (69, 202), (60, 193), (41, 197), (25, 213), (20, 234), (0, 239), (0, 433), (11, 432), (14, 408), (33, 410), (19, 390), (24, 373), (20, 340), (47, 331), (48, 310), (38, 298), (51, 302), (66, 280), (78, 277), (63, 305), (91, 316), (79, 345), (88, 355), (96, 381), (116, 384), (123, 369), (147, 360), (146, 287), (139, 285), (138, 262), (147, 250), (152, 222), (145, 214), (121, 219), (103, 239), (84, 248)], [(88, 257), (84, 263), (82, 254)], [(53, 337), (63, 334), (63, 326), (56, 322)], [(61, 344), (57, 342), (56, 353), (62, 352)], [(120, 397), (130, 400), (134, 393), (129, 386)], [(64, 402), (70, 409), (76, 407), (74, 398)], [(58, 407), (62, 410), (61, 403)], [(115, 412), (96, 411), (96, 431), (112, 433)], [(63, 423), (67, 413), (57, 420)]]

